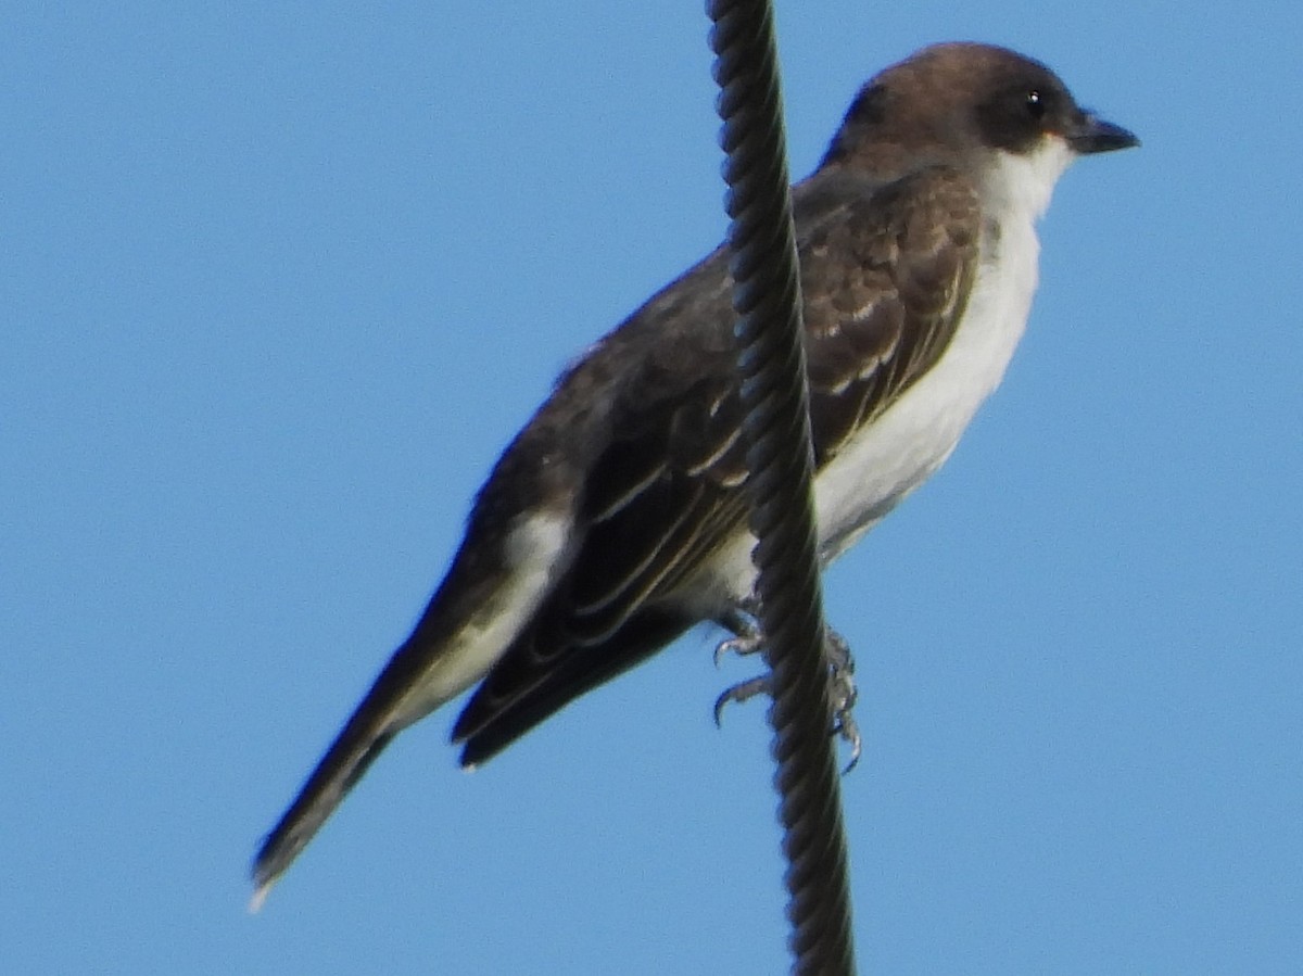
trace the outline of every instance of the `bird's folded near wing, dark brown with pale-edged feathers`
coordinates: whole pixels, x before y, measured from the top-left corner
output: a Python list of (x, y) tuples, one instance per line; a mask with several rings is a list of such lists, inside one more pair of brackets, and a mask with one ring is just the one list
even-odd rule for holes
[[(838, 177), (797, 188), (817, 465), (945, 351), (980, 227), (972, 188), (951, 169), (872, 195), (829, 192), (821, 179)], [(652, 339), (611, 408), (619, 434), (585, 472), (568, 571), (456, 723), (463, 762), (493, 756), (698, 622), (683, 588), (747, 517), (724, 274), (717, 253), (612, 336)]]

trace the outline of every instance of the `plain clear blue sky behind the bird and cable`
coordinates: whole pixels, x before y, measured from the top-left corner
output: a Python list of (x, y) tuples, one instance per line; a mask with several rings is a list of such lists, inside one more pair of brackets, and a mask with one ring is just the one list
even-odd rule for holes
[[(724, 228), (698, 3), (7, 4), (14, 972), (786, 967), (764, 708), (697, 633), (485, 769), (405, 734), (248, 863), (559, 369)], [(1296, 4), (779, 4), (792, 172), (939, 39), (1144, 147), (1005, 386), (826, 577), (863, 972), (1303, 969)]]

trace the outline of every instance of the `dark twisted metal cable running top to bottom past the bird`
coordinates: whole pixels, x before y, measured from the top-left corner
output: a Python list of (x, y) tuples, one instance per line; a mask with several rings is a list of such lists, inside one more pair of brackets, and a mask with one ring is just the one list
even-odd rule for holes
[(840, 786), (816, 554), (809, 394), (769, 0), (710, 0), (732, 220), (760, 624), (770, 670), (792, 972), (855, 972)]

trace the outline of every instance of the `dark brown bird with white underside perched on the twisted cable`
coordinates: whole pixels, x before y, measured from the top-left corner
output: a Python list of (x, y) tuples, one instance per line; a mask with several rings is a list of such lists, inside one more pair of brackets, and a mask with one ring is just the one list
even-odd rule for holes
[[(999, 384), (1068, 164), (1139, 145), (1048, 66), (969, 42), (870, 78), (792, 190), (818, 556), (928, 480)], [(476, 766), (689, 628), (735, 633), (754, 537), (721, 246), (593, 344), (509, 443), (410, 636), (253, 864), (254, 907), (404, 728), (473, 689)]]

